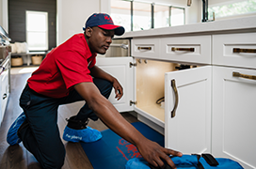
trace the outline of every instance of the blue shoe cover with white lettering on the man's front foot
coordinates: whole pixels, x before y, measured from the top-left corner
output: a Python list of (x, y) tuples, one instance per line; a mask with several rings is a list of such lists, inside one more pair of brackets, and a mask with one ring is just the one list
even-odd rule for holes
[(87, 129), (83, 130), (73, 130), (66, 126), (63, 132), (63, 139), (67, 142), (85, 142), (91, 143), (100, 140), (103, 137), (100, 131), (91, 129), (87, 127)]

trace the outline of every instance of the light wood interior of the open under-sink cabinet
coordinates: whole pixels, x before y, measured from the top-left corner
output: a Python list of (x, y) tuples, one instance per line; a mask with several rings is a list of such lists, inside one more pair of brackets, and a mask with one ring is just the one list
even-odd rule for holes
[(164, 103), (156, 103), (165, 97), (165, 72), (177, 70), (178, 64), (136, 59), (136, 107), (165, 121)]

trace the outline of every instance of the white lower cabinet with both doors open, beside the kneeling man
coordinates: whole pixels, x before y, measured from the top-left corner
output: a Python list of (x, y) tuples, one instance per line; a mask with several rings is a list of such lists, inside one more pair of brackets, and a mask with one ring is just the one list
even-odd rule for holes
[[(177, 70), (178, 65), (169, 61), (133, 57), (99, 57), (97, 66), (123, 86), (121, 100), (114, 99), (114, 90), (109, 98), (120, 113), (135, 111), (140, 121), (166, 135), (170, 148), (188, 154), (210, 152), (211, 66)], [(176, 80), (179, 93), (174, 118), (169, 114), (174, 101), (168, 79)], [(156, 103), (162, 97), (166, 99), (164, 106)]]

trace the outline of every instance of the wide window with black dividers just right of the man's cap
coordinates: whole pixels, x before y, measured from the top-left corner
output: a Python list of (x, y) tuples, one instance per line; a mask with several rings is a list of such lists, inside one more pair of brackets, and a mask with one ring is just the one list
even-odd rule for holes
[(146, 30), (184, 24), (184, 8), (139, 0), (111, 0), (111, 17), (126, 32)]

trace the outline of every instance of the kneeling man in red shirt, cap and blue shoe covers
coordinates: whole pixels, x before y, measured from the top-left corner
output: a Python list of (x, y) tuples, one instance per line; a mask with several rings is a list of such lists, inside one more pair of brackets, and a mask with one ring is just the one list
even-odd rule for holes
[(86, 100), (78, 114), (68, 120), (64, 140), (99, 140), (101, 132), (87, 124), (88, 118), (100, 118), (109, 129), (134, 144), (153, 166), (163, 167), (164, 160), (174, 168), (168, 155), (182, 156), (182, 153), (145, 138), (107, 100), (112, 87), (120, 100), (122, 87), (116, 78), (95, 66), (95, 57), (96, 54), (105, 54), (114, 35), (122, 35), (124, 28), (115, 25), (107, 14), (94, 13), (88, 18), (84, 31), (84, 34), (74, 35), (47, 54), (40, 68), (27, 80), (20, 98), (24, 113), (11, 125), (8, 144), (16, 145), (23, 141), (43, 168), (61, 168), (65, 148), (56, 124), (57, 108), (61, 104)]

